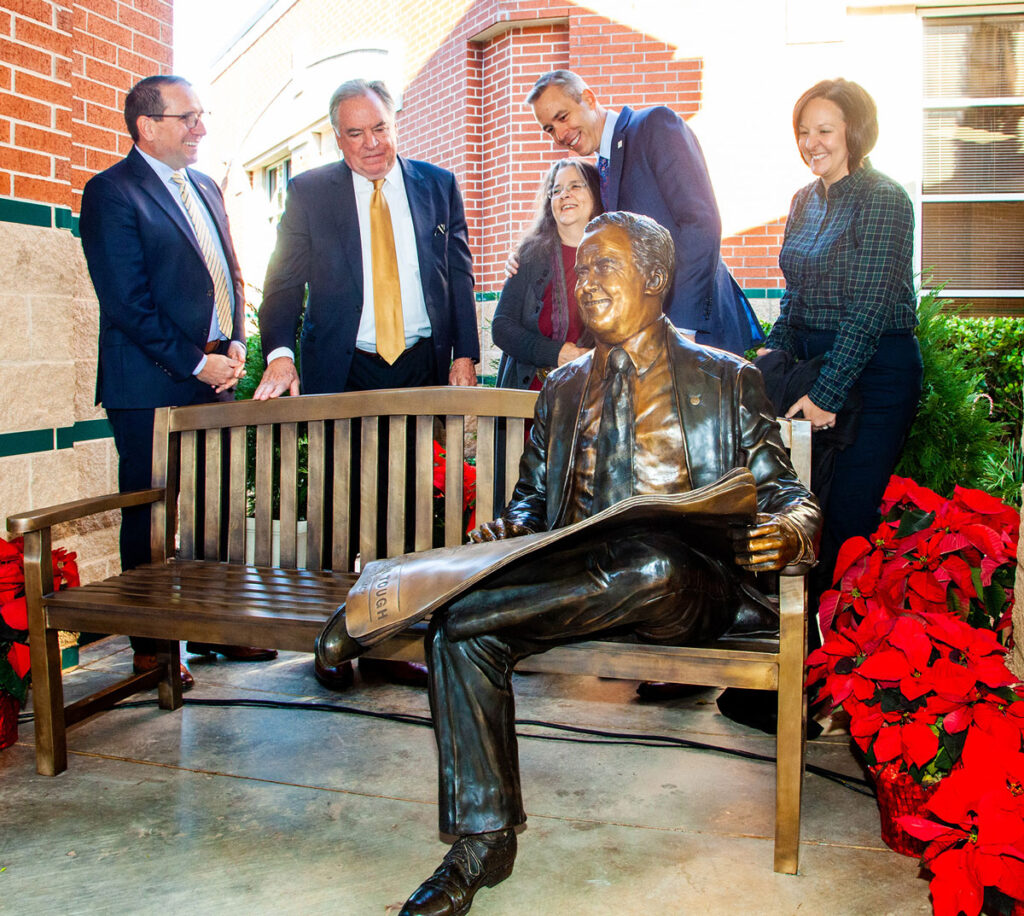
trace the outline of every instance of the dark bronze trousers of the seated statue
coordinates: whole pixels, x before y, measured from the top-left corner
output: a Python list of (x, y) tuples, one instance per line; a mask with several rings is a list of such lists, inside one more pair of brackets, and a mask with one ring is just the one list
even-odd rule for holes
[(733, 581), (674, 535), (630, 528), (512, 566), (435, 614), (426, 650), (441, 831), (526, 819), (511, 686), (519, 660), (597, 637), (713, 639), (730, 622)]

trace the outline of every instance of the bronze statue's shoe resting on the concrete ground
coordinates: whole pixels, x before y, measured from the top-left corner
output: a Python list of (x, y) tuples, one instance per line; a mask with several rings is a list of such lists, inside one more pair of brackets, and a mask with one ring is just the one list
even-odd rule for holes
[(494, 887), (512, 874), (515, 849), (511, 828), (460, 836), (398, 916), (464, 916), (477, 890)]

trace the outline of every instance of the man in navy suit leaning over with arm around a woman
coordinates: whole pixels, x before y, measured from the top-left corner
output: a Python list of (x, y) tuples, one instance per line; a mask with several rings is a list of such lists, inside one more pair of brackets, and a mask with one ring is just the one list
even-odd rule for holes
[(574, 73), (542, 76), (526, 103), (558, 146), (598, 155), (605, 210), (628, 210), (665, 226), (676, 246), (666, 314), (698, 344), (742, 355), (764, 340), (746, 297), (720, 256), (722, 220), (693, 131), (670, 108), (617, 115)]

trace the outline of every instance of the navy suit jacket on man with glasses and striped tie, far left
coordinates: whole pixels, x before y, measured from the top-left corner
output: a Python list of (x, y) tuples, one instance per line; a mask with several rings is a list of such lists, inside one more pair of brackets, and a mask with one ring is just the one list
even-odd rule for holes
[[(187, 173), (216, 223), (234, 287), (233, 338), (245, 342), (245, 290), (223, 198), (208, 175)], [(89, 179), (79, 227), (99, 299), (96, 403), (208, 400), (209, 387), (193, 370), (210, 334), (213, 279), (187, 218), (134, 147)]]

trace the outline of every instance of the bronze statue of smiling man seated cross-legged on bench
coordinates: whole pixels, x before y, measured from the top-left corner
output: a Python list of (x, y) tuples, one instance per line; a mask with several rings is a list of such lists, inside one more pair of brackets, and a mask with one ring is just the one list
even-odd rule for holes
[[(674, 265), (671, 235), (646, 217), (605, 213), (588, 225), (575, 297), (595, 348), (548, 376), (512, 498), (471, 537), (550, 531), (736, 468), (754, 477), (757, 517), (731, 531), (734, 564), (687, 543), (671, 520), (631, 524), (512, 564), (434, 613), (426, 650), (440, 829), (458, 840), (402, 916), (466, 913), (480, 887), (512, 871), (526, 819), (511, 687), (520, 659), (602, 637), (715, 639), (743, 604), (750, 572), (814, 562), (818, 506), (790, 464), (760, 374), (663, 315)], [(317, 652), (333, 665), (359, 651), (342, 608)]]

